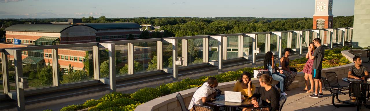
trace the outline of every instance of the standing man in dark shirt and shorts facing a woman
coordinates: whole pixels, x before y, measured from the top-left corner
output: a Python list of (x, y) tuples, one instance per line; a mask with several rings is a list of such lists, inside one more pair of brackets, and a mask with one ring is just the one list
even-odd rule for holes
[[(313, 43), (315, 43), (315, 46), (317, 47), (316, 50), (313, 52), (313, 55), (309, 53), (309, 57), (311, 60), (313, 60), (312, 65), (312, 78), (315, 81), (315, 91), (310, 97), (312, 98), (319, 98), (319, 96), (323, 96), (322, 93), (322, 81), (321, 81), (321, 70), (323, 68), (323, 59), (324, 59), (324, 48), (321, 46), (321, 39), (315, 38), (313, 40)], [(312, 50), (309, 48), (308, 50), (311, 52)], [(317, 88), (320, 86), (320, 92), (317, 94)]]

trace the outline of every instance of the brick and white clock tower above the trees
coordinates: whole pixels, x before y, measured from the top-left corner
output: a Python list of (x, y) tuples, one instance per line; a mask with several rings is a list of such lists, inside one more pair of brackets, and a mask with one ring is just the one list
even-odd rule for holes
[(313, 29), (333, 28), (333, 0), (315, 0)]

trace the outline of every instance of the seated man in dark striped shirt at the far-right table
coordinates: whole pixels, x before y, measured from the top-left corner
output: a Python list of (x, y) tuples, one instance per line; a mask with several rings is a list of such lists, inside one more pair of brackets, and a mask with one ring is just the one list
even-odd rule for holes
[(364, 80), (365, 78), (369, 78), (369, 72), (367, 72), (367, 68), (362, 64), (362, 60), (359, 56), (353, 57), (354, 65), (349, 68), (348, 71), (348, 78), (355, 78)]

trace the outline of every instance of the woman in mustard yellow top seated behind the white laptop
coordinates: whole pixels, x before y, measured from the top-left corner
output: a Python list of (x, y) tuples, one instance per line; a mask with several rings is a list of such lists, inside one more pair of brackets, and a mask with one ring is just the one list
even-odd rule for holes
[[(232, 91), (235, 92), (242, 92), (242, 99), (247, 100), (248, 98), (252, 97), (254, 94), (256, 87), (252, 84), (252, 75), (250, 75), (248, 72), (243, 72), (242, 75), (240, 75), (240, 79), (238, 82), (235, 83), (234, 88)], [(247, 108), (243, 108), (243, 111), (246, 111)]]

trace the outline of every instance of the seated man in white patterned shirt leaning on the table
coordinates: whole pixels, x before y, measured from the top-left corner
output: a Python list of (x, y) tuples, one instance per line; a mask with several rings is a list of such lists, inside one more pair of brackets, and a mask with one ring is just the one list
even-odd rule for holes
[(215, 98), (217, 95), (215, 87), (217, 87), (217, 85), (218, 85), (218, 82), (216, 78), (209, 77), (207, 82), (203, 83), (203, 85), (194, 92), (194, 95), (193, 95), (193, 98), (191, 98), (188, 110), (194, 111), (193, 110), (194, 104), (203, 105), (206, 101), (211, 100), (212, 98)]

